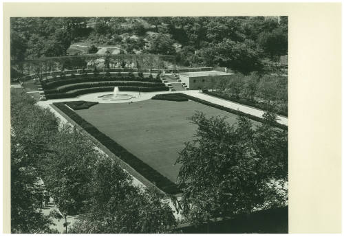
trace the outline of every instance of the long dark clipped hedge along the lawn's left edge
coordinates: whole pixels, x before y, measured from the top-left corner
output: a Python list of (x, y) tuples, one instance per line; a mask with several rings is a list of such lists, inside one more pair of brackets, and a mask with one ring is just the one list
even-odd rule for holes
[(128, 150), (120, 146), (120, 144), (116, 143), (113, 139), (107, 137), (107, 135), (104, 133), (101, 133), (96, 127), (94, 127), (92, 124), (89, 124), (89, 122), (85, 121), (82, 117), (65, 106), (64, 103), (60, 102), (53, 104), (72, 120), (74, 120), (74, 122), (85, 129), (87, 133), (96, 138), (101, 144), (103, 144), (103, 146), (111, 150), (111, 152), (114, 153), (118, 158), (122, 159), (122, 161), (125, 161), (125, 163), (131, 166), (131, 168), (135, 169), (137, 172), (142, 174), (142, 176), (151, 181), (151, 183), (160, 188), (160, 190), (166, 192), (167, 194), (178, 194), (180, 192), (175, 183), (162, 176), (162, 174), (151, 168), (151, 166), (147, 165), (147, 163), (144, 163), (142, 160), (138, 159), (138, 157), (135, 155), (129, 153)]

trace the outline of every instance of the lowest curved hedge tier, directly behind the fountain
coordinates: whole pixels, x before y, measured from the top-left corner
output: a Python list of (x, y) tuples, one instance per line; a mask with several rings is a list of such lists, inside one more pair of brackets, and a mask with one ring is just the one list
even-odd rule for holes
[[(151, 91), (169, 91), (169, 87), (118, 87), (120, 91), (140, 91), (140, 92), (151, 92)], [(68, 91), (66, 93), (52, 93), (45, 95), (47, 100), (61, 99), (61, 98), (74, 98), (78, 95), (84, 95), (87, 93), (114, 91), (114, 87), (93, 87), (85, 89), (76, 89)]]

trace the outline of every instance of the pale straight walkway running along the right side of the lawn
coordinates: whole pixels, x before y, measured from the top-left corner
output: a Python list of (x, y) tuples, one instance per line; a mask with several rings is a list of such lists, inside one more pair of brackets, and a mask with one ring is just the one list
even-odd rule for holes
[[(185, 93), (186, 95), (191, 95), (195, 98), (200, 98), (201, 100), (206, 100), (208, 102), (214, 103), (214, 104), (219, 104), (225, 107), (228, 107), (230, 109), (239, 109), (239, 111), (244, 112), (244, 113), (248, 113), (250, 115), (254, 115), (257, 117), (263, 117), (264, 111), (261, 111), (259, 109), (254, 109), (252, 107), (249, 106), (245, 106), (242, 104), (237, 104), (235, 102), (230, 102), (228, 100), (222, 100), (220, 98), (215, 98), (211, 95), (206, 95), (204, 93), (200, 93), (200, 91), (196, 91), (196, 90), (192, 90), (192, 91), (178, 91), (180, 93)], [(278, 116), (279, 120), (277, 120), (277, 122), (279, 124), (284, 124), (286, 126), (288, 126), (288, 118), (286, 117), (282, 117), (282, 116)]]

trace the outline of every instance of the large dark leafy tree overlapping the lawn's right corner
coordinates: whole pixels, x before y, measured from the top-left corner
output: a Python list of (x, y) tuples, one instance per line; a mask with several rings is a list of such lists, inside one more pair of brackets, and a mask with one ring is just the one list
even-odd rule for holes
[[(255, 144), (257, 139), (267, 137), (255, 137), (255, 128), (248, 118), (239, 117), (237, 124), (230, 126), (225, 117), (206, 118), (198, 112), (191, 120), (198, 126), (195, 140), (185, 144), (176, 162), (182, 166), (178, 183), (187, 221), (209, 223), (212, 218), (250, 214), (257, 207), (285, 205), (286, 196), (279, 195), (271, 183), (282, 177), (286, 180), (288, 169), (284, 165), (279, 170), (281, 175), (277, 175), (277, 159), (270, 161), (270, 155), (264, 156), (266, 144), (261, 148)], [(266, 126), (276, 129), (270, 124)], [(269, 138), (275, 145), (282, 140)], [(284, 137), (283, 145), (273, 148), (285, 150), (286, 142)], [(281, 160), (287, 162), (286, 153)]]

